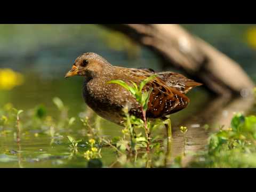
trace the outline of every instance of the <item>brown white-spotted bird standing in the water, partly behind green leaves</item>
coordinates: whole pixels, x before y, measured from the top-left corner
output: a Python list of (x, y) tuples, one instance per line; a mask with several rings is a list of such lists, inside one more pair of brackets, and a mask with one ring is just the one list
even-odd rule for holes
[(99, 116), (122, 124), (125, 106), (128, 106), (130, 114), (139, 118), (142, 117), (141, 107), (124, 87), (108, 82), (119, 79), (130, 85), (131, 81), (139, 85), (143, 79), (155, 74), (157, 77), (147, 83), (142, 90), (153, 89), (148, 101), (148, 118), (164, 118), (186, 108), (189, 98), (185, 94), (193, 87), (202, 85), (170, 71), (156, 73), (152, 69), (113, 66), (100, 55), (91, 52), (81, 54), (65, 78), (74, 75), (84, 76), (83, 97), (87, 105)]

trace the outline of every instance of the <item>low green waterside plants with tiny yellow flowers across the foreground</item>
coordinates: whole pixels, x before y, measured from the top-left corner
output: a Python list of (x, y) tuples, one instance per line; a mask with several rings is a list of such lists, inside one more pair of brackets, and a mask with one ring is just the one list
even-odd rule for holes
[[(59, 109), (63, 109), (61, 104), (59, 106)], [(18, 147), (14, 147), (13, 150), (4, 149), (3, 151), (5, 152), (1, 151), (1, 154), (9, 155), (11, 158), (15, 157), (15, 159), (13, 158), (15, 161), (13, 162), (18, 161), (19, 166), (22, 164), (20, 167), (28, 165), (28, 162), (26, 161), (30, 160), (34, 162), (51, 161), (52, 163), (57, 163), (58, 160), (59, 162), (62, 162), (60, 164), (63, 165), (69, 165), (69, 163), (73, 161), (89, 163), (93, 159), (95, 159), (95, 162), (98, 160), (101, 162), (100, 158), (102, 151), (104, 151), (104, 153), (106, 153), (106, 151), (115, 153), (116, 157), (113, 159), (113, 162), (105, 165), (109, 165), (109, 167), (256, 167), (256, 116), (253, 115), (245, 116), (241, 113), (234, 114), (230, 126), (221, 126), (219, 131), (211, 134), (207, 148), (191, 154), (191, 159), (193, 160), (185, 165), (182, 163), (186, 163), (186, 158), (190, 158), (190, 154), (186, 154), (186, 156), (179, 154), (177, 157), (174, 157), (173, 154), (170, 153), (171, 155), (169, 158), (169, 152), (172, 148), (171, 145), (169, 146), (171, 142), (157, 140), (157, 137), (154, 137), (154, 130), (157, 130), (160, 126), (164, 126), (166, 122), (161, 119), (147, 121), (147, 126), (151, 133), (149, 135), (150, 142), (148, 143), (146, 135), (142, 134), (145, 131), (145, 122), (143, 119), (130, 115), (127, 107), (124, 108), (124, 127), (122, 131), (119, 137), (111, 139), (108, 139), (106, 135), (100, 133), (100, 129), (102, 129), (103, 126), (103, 124), (100, 124), (100, 118), (98, 118), (98, 122), (93, 121), (92, 117), (89, 118), (87, 116), (55, 119), (54, 117), (45, 114), (43, 112), (45, 110), (41, 110), (40, 105), (33, 108), (33, 110), (26, 110), (23, 112), (22, 110), (13, 108), (14, 106), (10, 103), (0, 108), (1, 141), (5, 141), (3, 138), (12, 137), (12, 134), (8, 133), (13, 133), (14, 139), (18, 141), (18, 132), (15, 130), (15, 125), (18, 125), (18, 121), (20, 121), (20, 125), (22, 125), (19, 126), (19, 131), (20, 128), (22, 128), (22, 132), (20, 131), (19, 134), (22, 135), (22, 141), (23, 139), (31, 140), (34, 138), (35, 140), (47, 139), (48, 142), (50, 139), (51, 146), (53, 147), (52, 150), (58, 145), (67, 150), (66, 142), (63, 142), (60, 137), (60, 133), (62, 134), (63, 132), (65, 133), (65, 131), (70, 130), (65, 130), (66, 128), (77, 126), (79, 128), (77, 133), (80, 133), (79, 131), (81, 130), (85, 130), (86, 133), (83, 135), (83, 140), (85, 140), (85, 142), (74, 139), (73, 135), (72, 137), (68, 135), (68, 149), (70, 151), (60, 154), (58, 152), (55, 152), (54, 154), (53, 151), (49, 151), (47, 153), (51, 153), (52, 156), (47, 158), (46, 155), (42, 155), (44, 152), (38, 151), (38, 149), (36, 149), (36, 152), (33, 151), (33, 153), (37, 154), (35, 158), (28, 158), (28, 151), (26, 151), (24, 147), (21, 150), (22, 142), (18, 142)], [(41, 112), (38, 112), (38, 110), (41, 110)], [(59, 114), (61, 114), (61, 110), (59, 110)], [(22, 117), (22, 120), (20, 117)], [(82, 123), (77, 121), (77, 118), (81, 118)], [(60, 127), (60, 121), (63, 128)], [(188, 129), (186, 126), (181, 126), (179, 128), (180, 132), (183, 134), (183, 153), (185, 153), (186, 134)], [(207, 131), (210, 129), (210, 126), (205, 125), (202, 129)], [(76, 131), (77, 130), (73, 129), (74, 135), (76, 134)], [(11, 138), (11, 140), (13, 139)], [(31, 140), (31, 142), (35, 140)], [(150, 148), (150, 151), (145, 150), (147, 147)], [(67, 156), (67, 154), (69, 156)], [(5, 155), (2, 156), (2, 162), (0, 159), (1, 163), (8, 163)], [(44, 156), (45, 158), (43, 158)], [(18, 160), (17, 157), (19, 157)], [(183, 158), (185, 161), (182, 161)], [(57, 165), (54, 164), (54, 166)]]

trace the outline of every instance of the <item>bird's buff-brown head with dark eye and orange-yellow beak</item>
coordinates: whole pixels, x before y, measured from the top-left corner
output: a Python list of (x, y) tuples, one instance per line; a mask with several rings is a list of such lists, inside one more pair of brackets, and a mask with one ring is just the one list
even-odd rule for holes
[(102, 71), (110, 66), (108, 61), (96, 53), (83, 53), (75, 60), (72, 68), (65, 75), (65, 78), (75, 75), (93, 78), (102, 74)]

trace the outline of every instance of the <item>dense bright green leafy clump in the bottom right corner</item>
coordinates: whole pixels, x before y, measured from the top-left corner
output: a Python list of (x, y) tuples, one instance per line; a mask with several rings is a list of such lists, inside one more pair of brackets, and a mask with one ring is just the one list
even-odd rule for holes
[(256, 167), (256, 116), (235, 114), (230, 127), (212, 134), (207, 150), (189, 166)]

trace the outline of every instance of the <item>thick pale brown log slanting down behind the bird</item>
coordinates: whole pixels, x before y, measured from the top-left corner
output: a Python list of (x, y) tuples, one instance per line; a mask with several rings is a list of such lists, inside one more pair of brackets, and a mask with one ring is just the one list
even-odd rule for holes
[(235, 61), (179, 25), (104, 25), (149, 47), (163, 59), (163, 67), (182, 69), (188, 76), (220, 95), (239, 94), (254, 84)]

